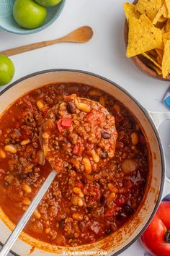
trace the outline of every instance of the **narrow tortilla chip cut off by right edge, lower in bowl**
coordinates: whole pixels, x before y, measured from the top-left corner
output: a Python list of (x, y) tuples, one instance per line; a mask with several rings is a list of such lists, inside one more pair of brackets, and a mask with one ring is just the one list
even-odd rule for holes
[(162, 60), (162, 74), (166, 78), (170, 73), (170, 40), (166, 40), (164, 48), (164, 56)]

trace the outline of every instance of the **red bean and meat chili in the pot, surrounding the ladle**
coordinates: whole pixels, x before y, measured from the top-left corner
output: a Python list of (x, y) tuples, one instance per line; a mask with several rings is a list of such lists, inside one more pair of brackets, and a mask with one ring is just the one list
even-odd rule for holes
[[(0, 119), (0, 205), (12, 222), (19, 221), (51, 171), (48, 161), (44, 163), (39, 142), (42, 120), (48, 117), (50, 108), (72, 93), (99, 102), (115, 116), (115, 155), (105, 163), (106, 150), (96, 149), (91, 153), (92, 166), (95, 157), (99, 162), (92, 171), (84, 170), (86, 161), (81, 163), (82, 169), (76, 162), (64, 163), (66, 173), (55, 178), (24, 231), (43, 242), (75, 247), (103, 239), (133, 216), (145, 190), (148, 149), (138, 122), (111, 95), (76, 83), (32, 90), (14, 102)], [(74, 106), (68, 105), (68, 111), (74, 111)], [(89, 125), (95, 123), (96, 117), (97, 113), (89, 116)], [(64, 118), (56, 124), (58, 132), (72, 125), (69, 116)], [(77, 139), (82, 140), (84, 126), (79, 128)], [(109, 142), (107, 133), (102, 136)], [(70, 137), (71, 147), (74, 140), (76, 159), (82, 149), (75, 137)]]

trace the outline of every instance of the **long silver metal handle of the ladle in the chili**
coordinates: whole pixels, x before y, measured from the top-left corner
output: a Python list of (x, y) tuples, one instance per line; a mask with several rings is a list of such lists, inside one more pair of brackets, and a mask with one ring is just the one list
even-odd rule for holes
[(32, 200), (32, 203), (30, 204), (29, 208), (26, 210), (26, 212), (20, 219), (19, 223), (17, 223), (17, 226), (15, 227), (14, 231), (12, 231), (12, 234), (9, 236), (4, 246), (1, 248), (0, 256), (6, 256), (8, 254), (8, 252), (12, 248), (12, 245), (17, 240), (19, 234), (22, 232), (22, 229), (24, 229), (24, 226), (27, 224), (27, 221), (29, 221), (30, 217), (32, 216), (32, 213), (34, 213), (35, 209), (37, 208), (37, 205), (39, 204), (42, 197), (45, 195), (45, 192), (47, 192), (48, 188), (50, 187), (50, 184), (53, 182), (56, 175), (56, 171), (53, 170), (50, 172), (48, 178), (45, 180), (39, 192), (37, 192), (37, 195), (35, 196), (34, 200)]

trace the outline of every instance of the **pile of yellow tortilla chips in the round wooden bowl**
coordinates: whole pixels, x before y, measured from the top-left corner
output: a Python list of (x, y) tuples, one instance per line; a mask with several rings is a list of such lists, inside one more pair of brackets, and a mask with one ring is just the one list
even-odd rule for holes
[(124, 4), (128, 22), (127, 57), (143, 55), (166, 78), (170, 74), (170, 0), (138, 0)]

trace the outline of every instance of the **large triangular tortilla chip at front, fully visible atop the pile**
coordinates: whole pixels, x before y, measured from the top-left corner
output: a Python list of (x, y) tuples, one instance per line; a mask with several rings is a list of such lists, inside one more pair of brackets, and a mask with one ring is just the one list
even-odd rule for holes
[(145, 14), (140, 19), (131, 17), (129, 20), (127, 57), (143, 54), (154, 48), (162, 48), (161, 30), (154, 27)]

